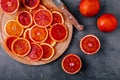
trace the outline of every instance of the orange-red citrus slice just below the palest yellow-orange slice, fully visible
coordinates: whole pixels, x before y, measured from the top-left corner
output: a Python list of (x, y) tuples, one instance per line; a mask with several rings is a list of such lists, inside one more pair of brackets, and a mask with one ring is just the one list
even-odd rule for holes
[(11, 49), (15, 55), (23, 57), (30, 52), (31, 45), (27, 39), (17, 38), (16, 40), (13, 41)]

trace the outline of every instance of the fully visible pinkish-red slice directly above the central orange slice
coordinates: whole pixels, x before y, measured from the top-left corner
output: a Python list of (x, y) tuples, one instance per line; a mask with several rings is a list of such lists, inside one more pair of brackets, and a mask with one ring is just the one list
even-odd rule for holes
[(53, 21), (52, 13), (47, 9), (37, 10), (33, 18), (35, 24), (39, 25), (42, 28), (48, 27)]

